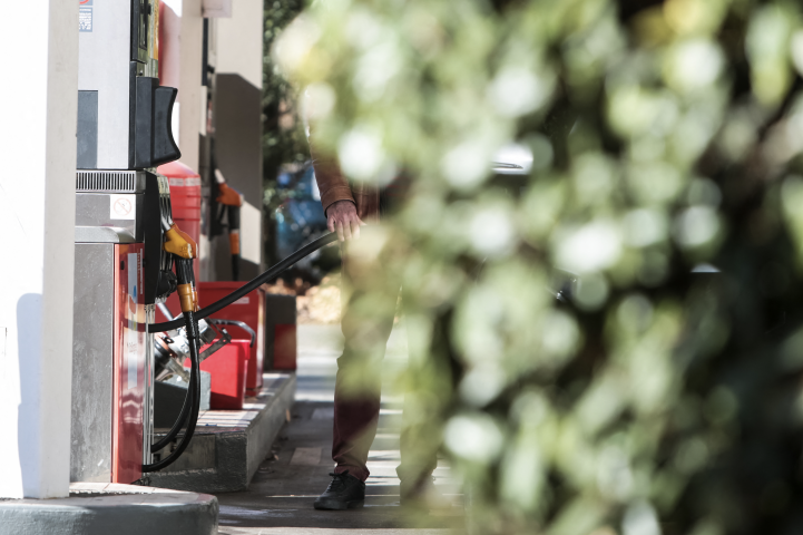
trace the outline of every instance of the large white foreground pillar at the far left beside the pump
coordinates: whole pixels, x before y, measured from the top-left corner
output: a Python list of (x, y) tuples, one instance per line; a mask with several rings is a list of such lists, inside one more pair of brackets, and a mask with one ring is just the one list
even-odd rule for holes
[[(78, 1), (31, 0), (0, 32), (0, 497), (70, 475)], [(12, 21), (12, 22), (11, 22)]]

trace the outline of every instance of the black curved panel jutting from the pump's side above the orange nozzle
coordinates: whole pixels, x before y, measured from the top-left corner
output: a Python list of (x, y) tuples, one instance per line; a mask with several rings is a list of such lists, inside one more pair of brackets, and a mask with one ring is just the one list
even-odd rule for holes
[(155, 167), (182, 157), (170, 120), (178, 90), (159, 86), (158, 78), (138, 77), (134, 118), (134, 167)]

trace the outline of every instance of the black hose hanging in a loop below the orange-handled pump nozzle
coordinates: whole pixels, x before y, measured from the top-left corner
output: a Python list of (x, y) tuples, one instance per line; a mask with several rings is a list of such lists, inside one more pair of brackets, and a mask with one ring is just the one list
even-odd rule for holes
[(198, 319), (195, 317), (194, 308), (194, 295), (195, 295), (195, 278), (193, 275), (193, 260), (176, 257), (176, 275), (178, 276), (179, 293), (182, 290), (186, 290), (179, 295), (182, 301), (182, 311), (184, 313), (184, 322), (187, 328), (187, 342), (189, 343), (189, 387), (187, 388), (187, 395), (184, 398), (184, 406), (182, 407), (182, 414), (173, 425), (173, 429), (158, 442), (150, 447), (151, 451), (158, 451), (159, 449), (167, 446), (173, 440), (178, 431), (187, 422), (187, 429), (184, 431), (182, 440), (176, 446), (176, 449), (170, 453), (164, 459), (153, 463), (150, 465), (143, 465), (143, 473), (156, 471), (172, 465), (189, 446), (189, 440), (193, 438), (195, 432), (195, 426), (198, 422), (198, 411), (200, 409), (200, 361), (198, 359)]

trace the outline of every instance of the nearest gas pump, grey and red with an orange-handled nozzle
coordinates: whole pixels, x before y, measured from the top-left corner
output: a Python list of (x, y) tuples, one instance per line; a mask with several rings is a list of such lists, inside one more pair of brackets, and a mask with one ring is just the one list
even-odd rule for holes
[[(195, 243), (173, 223), (169, 186), (155, 173), (180, 156), (170, 129), (177, 90), (157, 78), (156, 2), (81, 1), (74, 481), (141, 477), (153, 441), (154, 341), (147, 324), (156, 304), (176, 290), (183, 309), (197, 308)], [(190, 329), (190, 346), (196, 334)]]

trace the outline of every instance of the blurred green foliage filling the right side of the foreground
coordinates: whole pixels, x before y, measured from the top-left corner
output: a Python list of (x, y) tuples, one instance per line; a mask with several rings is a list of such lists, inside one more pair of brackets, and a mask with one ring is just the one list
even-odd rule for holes
[(478, 533), (803, 533), (796, 2), (320, 0), (274, 51), (352, 179), (414, 179), (359, 247)]

